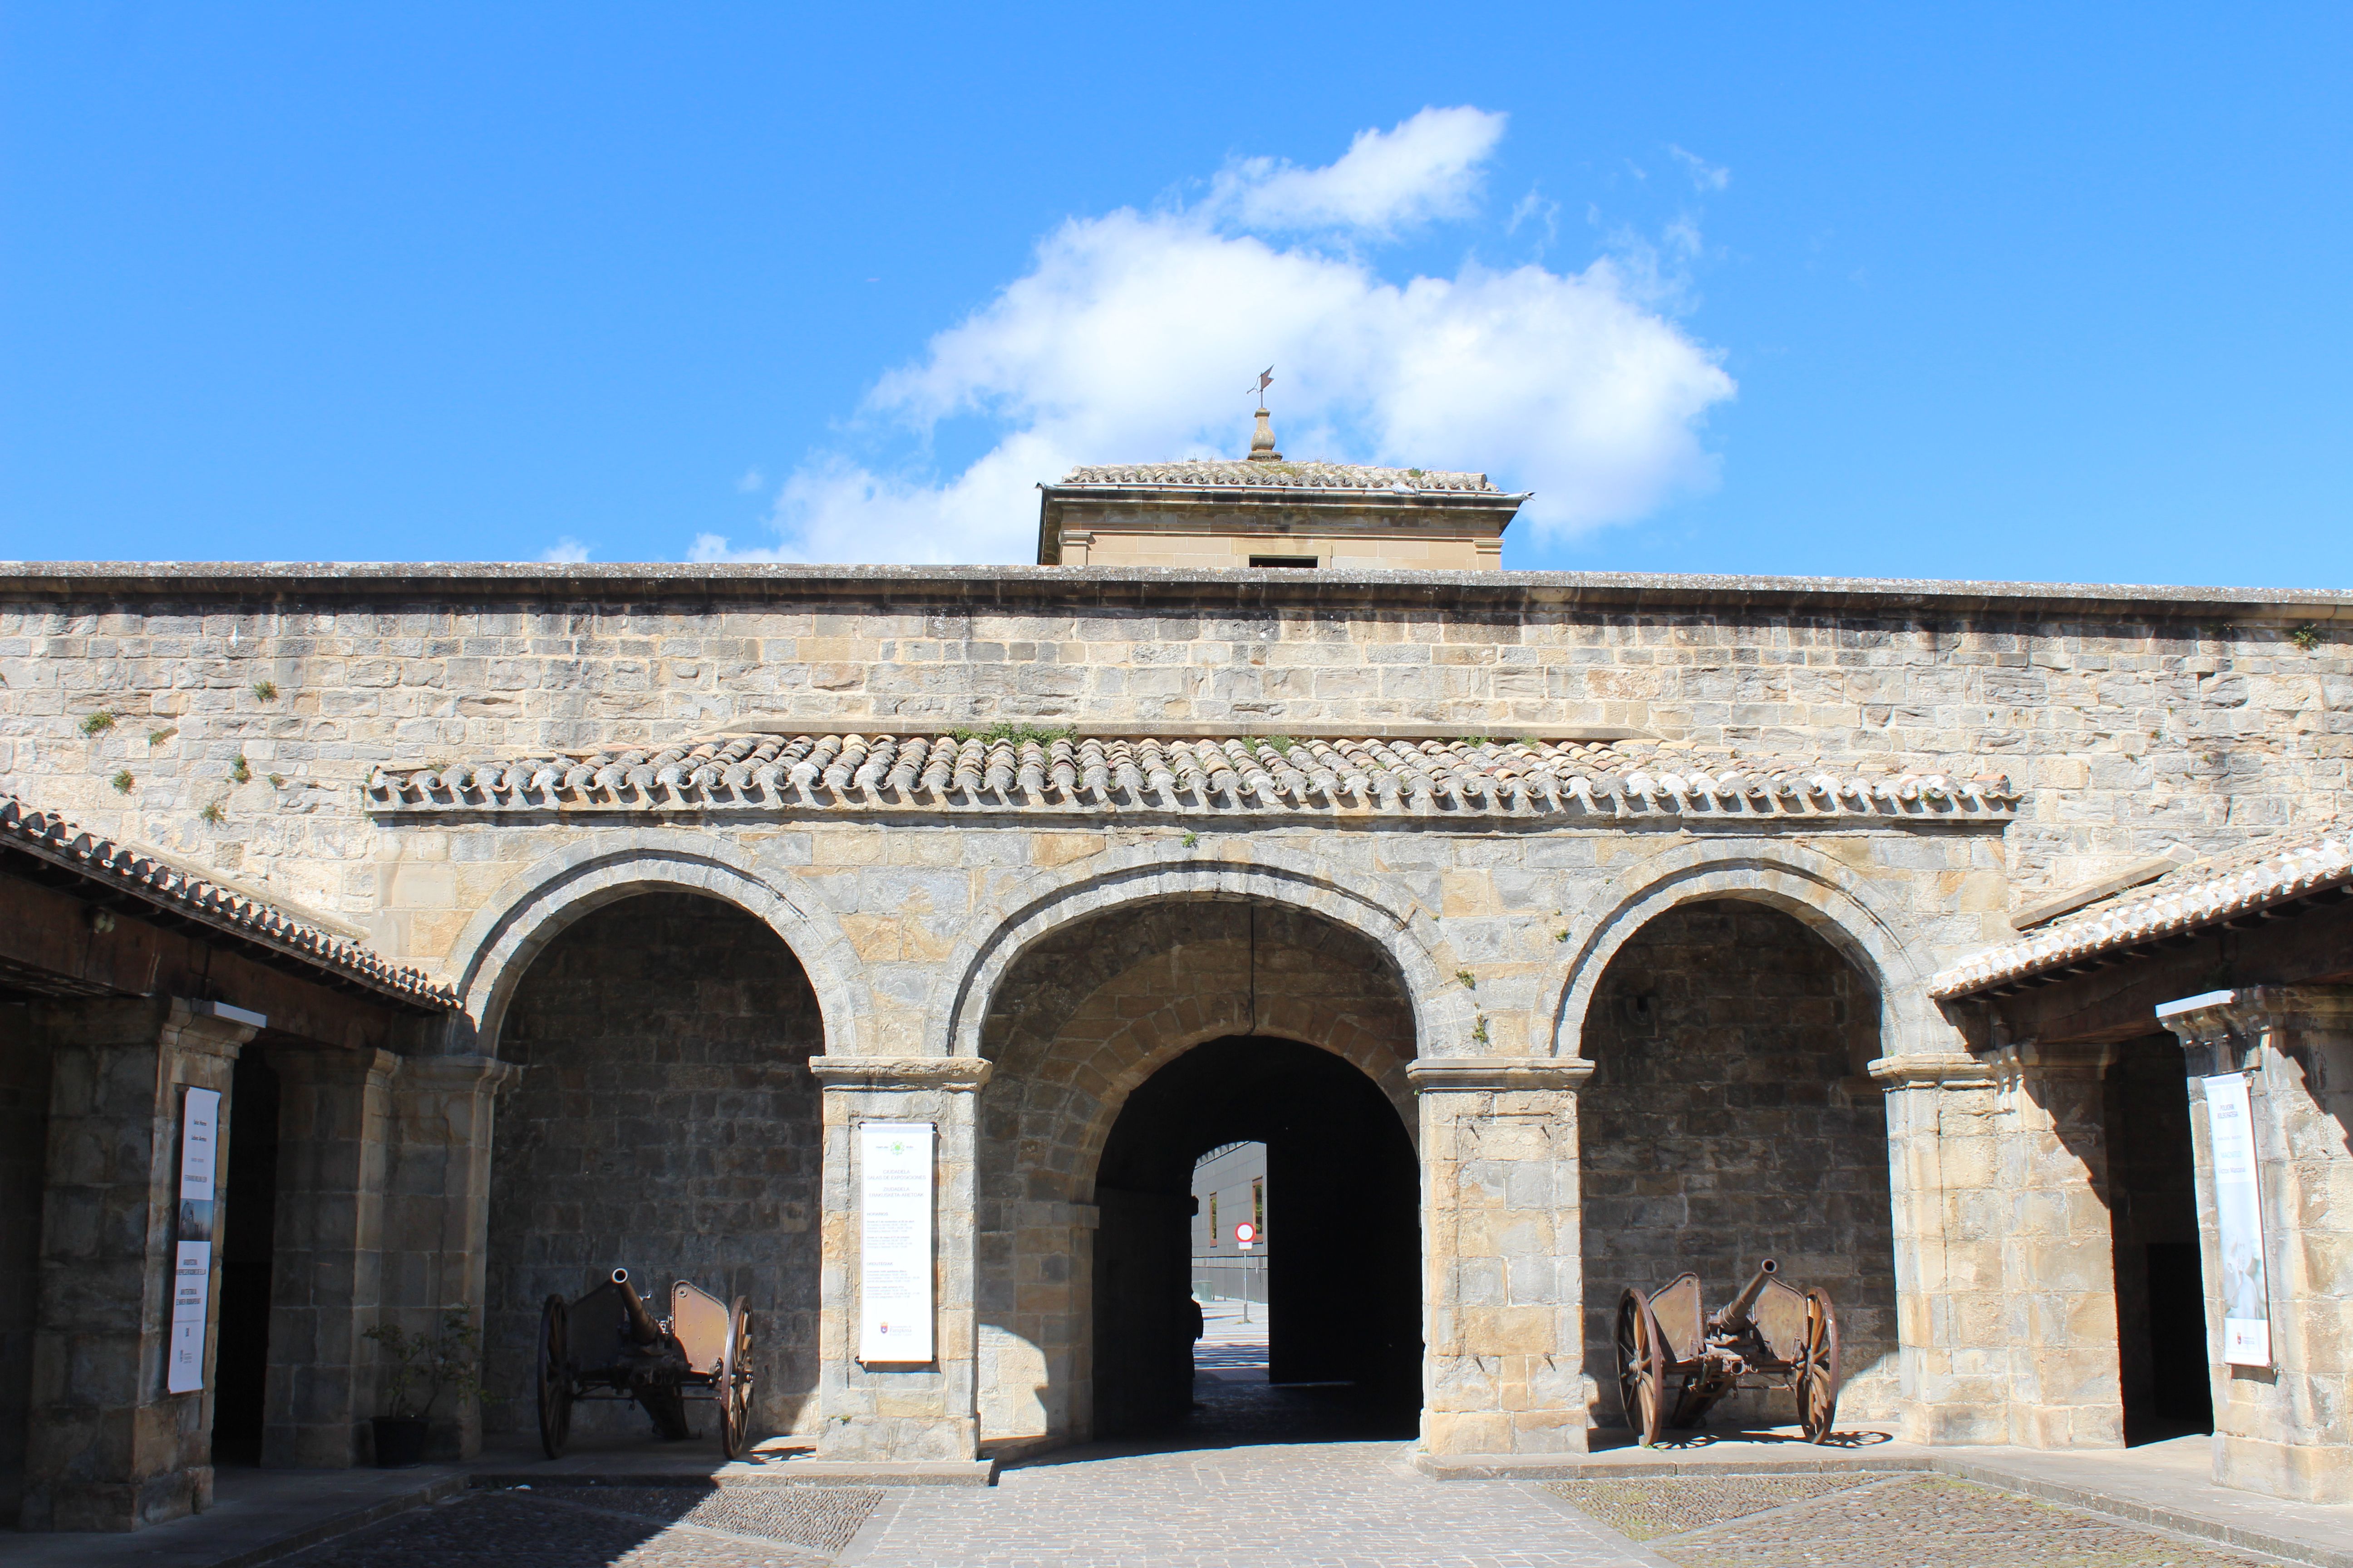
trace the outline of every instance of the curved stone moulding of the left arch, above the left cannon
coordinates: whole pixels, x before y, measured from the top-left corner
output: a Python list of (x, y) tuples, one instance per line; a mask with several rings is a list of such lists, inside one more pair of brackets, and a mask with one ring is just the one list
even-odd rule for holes
[(600, 830), (534, 860), (466, 924), (452, 964), (478, 1048), (496, 1053), (515, 987), (532, 959), (572, 922), (619, 898), (664, 889), (720, 898), (765, 922), (816, 990), (826, 1048), (856, 1048), (868, 1009), (859, 1006), (856, 954), (833, 912), (795, 877), (734, 844), (642, 827)]

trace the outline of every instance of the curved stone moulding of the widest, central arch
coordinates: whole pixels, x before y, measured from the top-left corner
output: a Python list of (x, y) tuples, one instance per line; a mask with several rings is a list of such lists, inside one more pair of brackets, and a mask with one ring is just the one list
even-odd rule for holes
[(1402, 884), (1379, 875), (1273, 846), (1249, 846), (1228, 860), (1153, 842), (1033, 872), (958, 938), (944, 964), (955, 992), (939, 1044), (951, 1056), (979, 1056), (981, 1023), (1005, 976), (1038, 943), (1073, 922), (1125, 905), (1240, 898), (1320, 914), (1367, 938), (1398, 969), (1414, 1009), (1417, 1053), (1438, 1053), (1447, 1041), (1464, 1041), (1452, 1048), (1468, 1051), (1473, 1011), (1461, 987), (1447, 985), (1452, 950), (1431, 912), (1400, 893)]

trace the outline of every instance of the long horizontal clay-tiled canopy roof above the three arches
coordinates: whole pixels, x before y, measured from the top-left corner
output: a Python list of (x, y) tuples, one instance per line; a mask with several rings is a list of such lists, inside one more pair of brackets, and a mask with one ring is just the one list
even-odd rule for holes
[(1824, 764), (1598, 741), (1273, 736), (718, 736), (440, 769), (379, 769), (376, 811), (1162, 809), (1475, 816), (2007, 813), (2005, 776), (1861, 776)]

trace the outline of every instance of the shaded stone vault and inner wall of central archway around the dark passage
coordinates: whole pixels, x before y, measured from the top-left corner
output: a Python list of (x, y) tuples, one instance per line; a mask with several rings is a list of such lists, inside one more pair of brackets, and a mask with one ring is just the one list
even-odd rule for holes
[[(1348, 1093), (1384, 1107), (1388, 1138), (1412, 1166), (1414, 1018), (1381, 943), (1322, 912), (1257, 898), (1139, 898), (1040, 933), (1009, 961), (979, 1027), (993, 1063), (974, 1192), (979, 1410), (993, 1453), (1101, 1436), (1099, 1410), (1111, 1427), (1132, 1420), (1094, 1309), (1096, 1272), (1122, 1258), (1129, 1199), (1120, 1194), (1141, 1192), (1118, 1185), (1129, 1157), (1111, 1147), (1132, 1098), (1226, 1037), (1304, 1051), (1329, 1058), (1348, 1074)], [(1179, 1204), (1191, 1159), (1214, 1143), (1207, 1135), (1172, 1157), (1184, 1166), (1169, 1187)], [(1414, 1215), (1407, 1206), (1405, 1246), (1414, 1246)], [(1186, 1312), (1184, 1300), (1179, 1265), (1165, 1309)], [(1104, 1389), (1099, 1375), (1111, 1380)]]

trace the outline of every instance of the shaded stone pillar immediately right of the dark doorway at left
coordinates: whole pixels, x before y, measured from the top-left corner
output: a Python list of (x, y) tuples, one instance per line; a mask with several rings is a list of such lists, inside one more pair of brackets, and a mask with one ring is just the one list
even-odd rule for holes
[(391, 1051), (268, 1053), (278, 1105), (278, 1234), (261, 1462), (346, 1467), (367, 1453), (381, 1300)]

